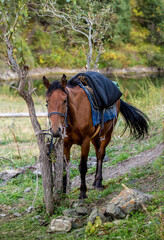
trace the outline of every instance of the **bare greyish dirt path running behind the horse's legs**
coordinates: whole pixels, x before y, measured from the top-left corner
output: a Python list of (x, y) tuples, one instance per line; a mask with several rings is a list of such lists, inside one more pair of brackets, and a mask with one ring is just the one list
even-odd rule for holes
[[(140, 154), (130, 157), (117, 165), (103, 168), (103, 179), (110, 180), (112, 178), (129, 173), (132, 168), (142, 167), (147, 163), (153, 162), (163, 152), (164, 144), (160, 143), (156, 147), (141, 152)], [(94, 181), (94, 174), (88, 174), (86, 177), (87, 185), (91, 185)], [(72, 180), (72, 188), (80, 186), (80, 178), (75, 177)]]

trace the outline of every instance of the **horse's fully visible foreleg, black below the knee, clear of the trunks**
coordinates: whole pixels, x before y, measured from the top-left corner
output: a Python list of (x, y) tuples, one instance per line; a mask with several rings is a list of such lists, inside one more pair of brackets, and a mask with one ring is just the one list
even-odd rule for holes
[(79, 171), (80, 171), (80, 177), (81, 177), (79, 199), (87, 198), (86, 196), (87, 186), (86, 186), (85, 177), (87, 173), (87, 159), (88, 159), (89, 147), (90, 147), (90, 141), (89, 139), (85, 139), (81, 145), (81, 161), (79, 164)]

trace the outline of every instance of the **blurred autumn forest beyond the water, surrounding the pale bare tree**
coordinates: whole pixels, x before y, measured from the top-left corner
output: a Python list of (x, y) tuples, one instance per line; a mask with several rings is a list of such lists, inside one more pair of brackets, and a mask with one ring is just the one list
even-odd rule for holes
[[(19, 4), (19, 1), (5, 2), (12, 17), (14, 4), (15, 2)], [(32, 5), (28, 5), (27, 16), (26, 11), (24, 13), (26, 21), (19, 26), (16, 37), (12, 39), (16, 51), (19, 49), (23, 51), (25, 62), (30, 69), (84, 68), (87, 47), (85, 36), (64, 27), (59, 19), (39, 16), (38, 13), (42, 8), (40, 3), (41, 1), (34, 0)], [(71, 6), (75, 11), (80, 8), (88, 13), (89, 4), (94, 5), (94, 13), (110, 5), (110, 14), (104, 20), (107, 31), (104, 31), (101, 38), (103, 49), (98, 68), (164, 67), (164, 2), (162, 0), (58, 0), (56, 8), (66, 11), (65, 8)], [(7, 61), (4, 61), (6, 58), (4, 44), (0, 39), (1, 70), (7, 68)], [(98, 54), (98, 44), (96, 41), (93, 43), (93, 58)]]

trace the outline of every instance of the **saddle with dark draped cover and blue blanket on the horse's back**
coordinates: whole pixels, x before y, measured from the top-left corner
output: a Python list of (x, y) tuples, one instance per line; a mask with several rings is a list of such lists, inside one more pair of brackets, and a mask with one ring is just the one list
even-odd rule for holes
[(73, 76), (68, 84), (70, 86), (79, 85), (88, 96), (92, 109), (93, 126), (117, 117), (115, 102), (122, 96), (117, 83), (100, 73), (89, 71)]

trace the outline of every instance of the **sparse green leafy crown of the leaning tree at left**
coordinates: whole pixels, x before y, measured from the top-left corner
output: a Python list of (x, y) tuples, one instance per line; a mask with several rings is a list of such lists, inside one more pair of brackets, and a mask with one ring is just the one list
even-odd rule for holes
[[(25, 64), (24, 49), (26, 52), (28, 51), (28, 56), (31, 55), (31, 51), (26, 44), (24, 44), (23, 48), (23, 43), (25, 43), (24, 39), (23, 43), (17, 40), (19, 36), (18, 30), (26, 26), (29, 20), (28, 2), (29, 0), (16, 0), (14, 3), (10, 0), (0, 1), (0, 36), (6, 45), (7, 42), (10, 42), (12, 46), (12, 55), (20, 67)], [(13, 63), (10, 63), (10, 65), (11, 68), (14, 67)]]

